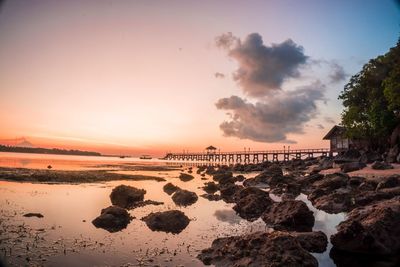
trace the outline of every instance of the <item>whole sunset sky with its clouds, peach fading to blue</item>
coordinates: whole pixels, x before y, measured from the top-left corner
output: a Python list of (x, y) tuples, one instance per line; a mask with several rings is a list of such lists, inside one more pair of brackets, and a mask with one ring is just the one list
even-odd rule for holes
[(392, 0), (10, 0), (0, 143), (153, 154), (324, 148), (351, 75), (394, 46)]

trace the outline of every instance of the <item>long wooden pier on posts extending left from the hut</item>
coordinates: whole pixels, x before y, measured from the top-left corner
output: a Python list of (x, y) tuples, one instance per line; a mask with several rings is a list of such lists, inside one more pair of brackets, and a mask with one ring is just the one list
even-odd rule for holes
[(220, 152), (209, 151), (198, 153), (167, 153), (164, 160), (175, 161), (208, 161), (208, 162), (232, 162), (232, 163), (257, 163), (264, 161), (288, 161), (291, 159), (306, 159), (315, 156), (330, 155), (328, 148), (319, 149), (293, 149), (293, 150), (267, 150), (267, 151), (235, 151)]

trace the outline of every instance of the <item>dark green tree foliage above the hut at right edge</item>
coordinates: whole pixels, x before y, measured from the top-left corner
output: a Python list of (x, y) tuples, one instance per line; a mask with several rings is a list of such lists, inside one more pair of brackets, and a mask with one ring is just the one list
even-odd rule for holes
[(400, 110), (400, 41), (352, 76), (339, 99), (347, 135), (369, 141), (372, 148), (385, 148), (400, 122), (396, 116)]

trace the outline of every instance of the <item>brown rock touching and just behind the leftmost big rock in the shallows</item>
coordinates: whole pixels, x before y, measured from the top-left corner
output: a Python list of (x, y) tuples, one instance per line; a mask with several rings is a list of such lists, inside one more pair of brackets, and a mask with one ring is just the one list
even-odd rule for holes
[(134, 206), (135, 202), (143, 201), (144, 194), (146, 194), (146, 190), (144, 189), (138, 189), (128, 185), (119, 185), (112, 190), (110, 199), (113, 205), (129, 209)]

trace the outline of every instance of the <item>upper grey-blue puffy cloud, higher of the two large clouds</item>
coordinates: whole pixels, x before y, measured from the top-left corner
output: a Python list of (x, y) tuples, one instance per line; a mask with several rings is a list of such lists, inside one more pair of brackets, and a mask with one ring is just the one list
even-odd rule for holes
[(238, 62), (233, 78), (251, 97), (267, 96), (281, 89), (285, 80), (300, 76), (299, 68), (308, 59), (303, 47), (291, 39), (266, 46), (258, 33), (249, 34), (244, 41), (225, 33), (215, 42)]

